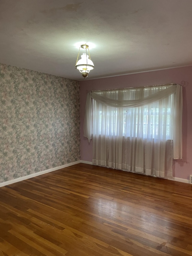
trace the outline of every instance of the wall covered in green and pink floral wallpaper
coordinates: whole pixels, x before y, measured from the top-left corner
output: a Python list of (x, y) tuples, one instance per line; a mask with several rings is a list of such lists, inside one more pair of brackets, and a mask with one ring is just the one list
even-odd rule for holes
[(0, 64), (0, 182), (80, 159), (79, 82)]

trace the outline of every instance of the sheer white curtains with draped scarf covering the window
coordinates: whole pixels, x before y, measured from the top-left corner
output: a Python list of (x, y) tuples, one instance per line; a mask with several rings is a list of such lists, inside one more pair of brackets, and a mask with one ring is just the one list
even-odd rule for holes
[(84, 135), (91, 134), (93, 164), (173, 176), (172, 160), (182, 158), (182, 86), (91, 92)]

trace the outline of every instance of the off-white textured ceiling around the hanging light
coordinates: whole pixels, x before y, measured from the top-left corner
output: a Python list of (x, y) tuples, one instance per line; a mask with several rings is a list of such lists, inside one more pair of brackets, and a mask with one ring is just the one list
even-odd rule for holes
[[(192, 65), (191, 0), (1, 0), (0, 62), (75, 80)], [(82, 50), (83, 52), (83, 50)]]

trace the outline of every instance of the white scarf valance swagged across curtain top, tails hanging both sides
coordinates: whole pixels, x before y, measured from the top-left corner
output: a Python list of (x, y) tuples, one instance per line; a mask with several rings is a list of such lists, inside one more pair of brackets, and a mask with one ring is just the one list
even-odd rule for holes
[[(129, 89), (129, 88), (127, 88)], [(130, 88), (131, 90), (137, 88)], [(136, 100), (115, 100), (107, 97), (103, 97), (95, 92), (89, 92), (87, 94), (86, 106), (85, 106), (85, 118), (84, 118), (84, 136), (88, 138), (88, 142), (92, 138), (92, 102), (91, 98), (95, 101), (110, 107), (118, 108), (134, 108), (141, 107), (147, 104), (152, 104), (157, 101), (161, 101), (164, 98), (167, 98), (171, 94), (174, 94), (174, 111), (172, 113), (173, 118), (176, 121), (176, 124), (173, 128), (173, 158), (179, 159), (182, 158), (182, 86), (173, 85), (166, 89), (163, 89), (157, 93), (149, 95), (144, 98)]]

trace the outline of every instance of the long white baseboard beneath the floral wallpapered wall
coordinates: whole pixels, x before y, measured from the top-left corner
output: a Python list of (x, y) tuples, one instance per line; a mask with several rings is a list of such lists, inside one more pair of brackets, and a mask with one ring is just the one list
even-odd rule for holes
[(36, 177), (36, 176), (39, 176), (39, 175), (42, 175), (42, 174), (45, 174), (45, 173), (50, 173), (50, 172), (53, 172), (53, 171), (56, 171), (56, 170), (59, 170), (59, 169), (62, 169), (62, 168), (65, 168), (65, 167), (68, 167), (68, 166), (71, 166), (71, 165), (74, 165), (74, 164), (79, 164), (79, 163), (81, 163), (80, 160), (76, 161), (76, 162), (73, 162), (73, 163), (70, 163), (70, 164), (64, 164), (64, 165), (61, 165), (61, 166), (58, 166), (58, 167), (54, 167), (54, 168), (51, 168), (51, 169), (48, 169), (48, 170), (44, 170), (44, 171), (41, 171), (41, 172), (38, 172), (38, 173), (32, 173), (32, 174), (29, 174), (27, 176), (23, 176), (23, 177), (20, 177), (20, 178), (17, 178), (17, 179), (11, 179), (11, 180), (0, 183), (0, 187), (4, 187), (4, 186), (7, 186), (7, 185), (10, 185), (10, 184), (13, 184), (13, 183), (25, 180), (25, 179), (30, 179), (30, 178), (33, 178), (33, 177)]

